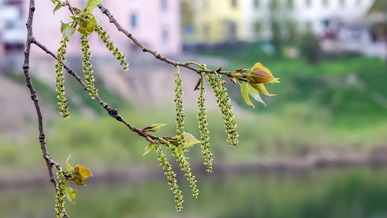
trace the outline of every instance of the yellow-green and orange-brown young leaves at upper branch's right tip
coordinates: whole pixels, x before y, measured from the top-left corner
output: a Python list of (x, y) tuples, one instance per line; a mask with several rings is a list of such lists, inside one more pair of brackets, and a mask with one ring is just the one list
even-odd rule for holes
[[(275, 78), (271, 71), (264, 67), (261, 63), (256, 63), (252, 69), (239, 69), (232, 72), (233, 79), (235, 78), (241, 85), (242, 97), (248, 105), (253, 105), (250, 101), (249, 95), (252, 96), (255, 100), (266, 104), (260, 97), (259, 93), (262, 93), (267, 96), (275, 96), (275, 94), (270, 94), (264, 83), (277, 83), (279, 78)], [(231, 78), (230, 78), (231, 79)]]

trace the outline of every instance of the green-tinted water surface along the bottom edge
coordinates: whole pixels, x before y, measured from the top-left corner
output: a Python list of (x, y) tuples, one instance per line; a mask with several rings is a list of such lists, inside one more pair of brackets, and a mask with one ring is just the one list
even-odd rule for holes
[[(199, 176), (198, 176), (199, 177)], [(96, 179), (96, 178), (94, 178)], [(74, 218), (130, 217), (387, 217), (387, 169), (318, 170), (265, 175), (207, 175), (198, 178), (201, 196), (193, 199), (183, 178), (183, 210), (165, 180), (79, 187)], [(0, 191), (3, 218), (53, 218), (53, 187)]]

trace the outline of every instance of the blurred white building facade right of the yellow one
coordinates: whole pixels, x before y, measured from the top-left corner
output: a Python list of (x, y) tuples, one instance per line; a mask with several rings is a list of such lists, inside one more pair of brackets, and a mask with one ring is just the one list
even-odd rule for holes
[[(322, 35), (332, 22), (361, 22), (374, 0), (240, 0), (247, 41), (270, 40), (271, 21), (279, 21), (285, 37), (294, 28)], [(277, 6), (272, 8), (272, 4)]]

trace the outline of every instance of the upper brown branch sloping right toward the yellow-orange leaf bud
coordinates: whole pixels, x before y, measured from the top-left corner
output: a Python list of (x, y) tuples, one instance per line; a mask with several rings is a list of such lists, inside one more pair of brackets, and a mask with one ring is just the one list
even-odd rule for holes
[[(174, 65), (175, 67), (176, 66), (180, 66), (180, 67), (185, 67), (187, 69), (190, 69), (190, 70), (194, 70), (197, 74), (200, 74), (200, 73), (210, 73), (210, 74), (213, 74), (214, 73), (214, 70), (206, 70), (206, 69), (200, 69), (200, 68), (196, 68), (196, 67), (192, 67), (190, 66), (190, 63), (189, 62), (186, 62), (186, 63), (180, 63), (180, 62), (176, 62), (174, 60), (170, 60), (166, 57), (164, 57), (163, 55), (161, 55), (160, 53), (148, 48), (147, 46), (145, 46), (144, 44), (142, 44), (140, 42), (139, 39), (135, 38), (131, 33), (129, 33), (126, 29), (124, 29), (118, 22), (117, 20), (113, 17), (113, 15), (110, 13), (110, 11), (106, 8), (106, 7), (103, 7), (102, 5), (98, 5), (98, 8), (101, 9), (101, 12), (103, 14), (106, 14), (106, 16), (109, 18), (109, 22), (113, 23), (118, 31), (122, 32), (123, 34), (125, 34), (129, 39), (132, 39), (132, 41), (138, 45), (142, 51), (144, 52), (149, 52), (151, 53), (155, 58), (161, 60), (161, 61), (164, 61), (168, 64), (172, 64)], [(218, 74), (223, 74), (223, 75), (226, 75), (228, 77), (232, 77), (232, 73), (231, 71), (219, 71), (217, 72)]]

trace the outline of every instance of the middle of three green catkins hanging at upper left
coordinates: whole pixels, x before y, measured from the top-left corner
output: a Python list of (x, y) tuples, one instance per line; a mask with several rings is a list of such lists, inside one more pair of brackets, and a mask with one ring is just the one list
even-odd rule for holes
[(83, 57), (83, 72), (85, 73), (86, 83), (87, 83), (87, 91), (91, 95), (92, 99), (95, 99), (98, 95), (98, 89), (94, 87), (93, 81), (95, 81), (93, 77), (93, 70), (91, 69), (92, 65), (90, 63), (91, 60), (91, 52), (90, 52), (90, 43), (87, 40), (89, 36), (81, 34), (80, 36), (80, 47), (82, 48), (82, 57)]

